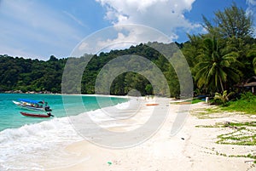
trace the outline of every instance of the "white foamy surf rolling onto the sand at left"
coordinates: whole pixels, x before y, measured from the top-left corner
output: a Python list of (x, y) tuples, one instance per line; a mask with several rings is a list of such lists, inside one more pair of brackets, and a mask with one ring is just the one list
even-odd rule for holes
[[(129, 102), (108, 107), (125, 109)], [(79, 116), (89, 115), (102, 128), (117, 126), (113, 117), (108, 117), (102, 109), (87, 111)], [(71, 117), (53, 118), (41, 123), (24, 125), (20, 128), (9, 128), (0, 132), (0, 170), (44, 170), (43, 164), (54, 168), (73, 165), (81, 162), (77, 154), (65, 151), (67, 145), (84, 140), (74, 129)], [(77, 159), (76, 159), (77, 158)]]

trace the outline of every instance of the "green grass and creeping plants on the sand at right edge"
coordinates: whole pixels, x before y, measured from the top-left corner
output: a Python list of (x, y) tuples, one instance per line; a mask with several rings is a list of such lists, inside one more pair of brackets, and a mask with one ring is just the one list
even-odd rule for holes
[[(212, 107), (205, 109), (198, 109), (192, 112), (195, 117), (200, 119), (211, 119), (219, 117), (228, 117), (232, 115), (241, 115), (252, 118), (256, 115), (256, 96), (252, 94), (245, 94), (240, 100), (234, 100), (227, 103), (227, 105), (212, 105)], [(215, 141), (220, 145), (242, 145), (254, 146), (256, 145), (256, 121), (249, 119), (247, 122), (224, 122), (215, 123), (213, 125), (197, 125), (196, 128), (227, 128), (226, 134), (219, 134)], [(225, 154), (220, 151), (212, 151), (213, 155), (223, 157), (244, 157), (252, 159), (253, 167), (256, 163), (255, 151), (247, 154)]]

